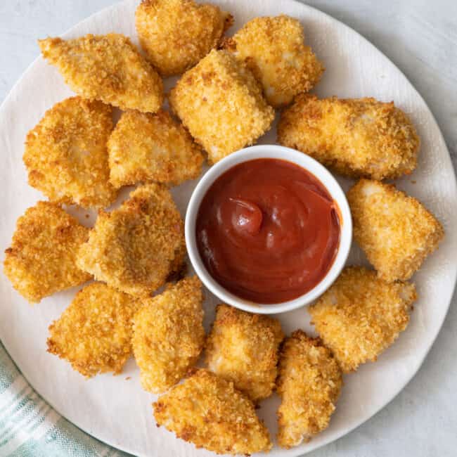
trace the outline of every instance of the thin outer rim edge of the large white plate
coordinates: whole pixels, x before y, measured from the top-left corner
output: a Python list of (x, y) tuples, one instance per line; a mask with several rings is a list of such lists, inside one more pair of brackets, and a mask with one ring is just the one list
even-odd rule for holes
[[(102, 8), (101, 10), (98, 10), (96, 11), (95, 13), (92, 13), (91, 15), (87, 16), (86, 18), (80, 20), (79, 22), (77, 22), (76, 24), (72, 25), (70, 28), (68, 28), (67, 30), (65, 30), (65, 32), (62, 32), (60, 34), (58, 34), (59, 37), (63, 37), (65, 38), (68, 34), (71, 34), (73, 32), (73, 30), (75, 29), (75, 27), (79, 27), (81, 25), (84, 25), (85, 22), (89, 22), (91, 20), (93, 20), (96, 16), (98, 15), (105, 15), (108, 11), (110, 10), (115, 10), (117, 8), (119, 8), (119, 6), (121, 4), (127, 4), (129, 3), (131, 0), (120, 0), (120, 1), (117, 1), (115, 2), (115, 4), (112, 4), (110, 6), (105, 6), (105, 8)], [(238, 1), (243, 1), (243, 0), (238, 0)], [(430, 117), (430, 120), (432, 120), (432, 122), (435, 123), (435, 127), (437, 127), (437, 131), (439, 132), (439, 139), (442, 141), (443, 145), (444, 145), (444, 148), (446, 149), (446, 152), (447, 152), (447, 155), (446, 155), (446, 161), (448, 162), (448, 165), (449, 167), (451, 168), (452, 170), (452, 176), (453, 176), (453, 182), (452, 182), (452, 187), (453, 187), (453, 193), (454, 195), (457, 194), (457, 179), (456, 179), (456, 169), (454, 169), (453, 167), (453, 163), (452, 163), (452, 160), (451, 160), (451, 155), (449, 153), (449, 148), (447, 146), (447, 143), (444, 139), (444, 135), (442, 133), (442, 130), (441, 128), (439, 127), (439, 123), (437, 122), (436, 120), (436, 117), (435, 115), (433, 114), (432, 110), (430, 110), (430, 107), (427, 105), (427, 103), (425, 102), (425, 99), (423, 98), (423, 96), (420, 94), (420, 92), (418, 91), (418, 89), (416, 89), (416, 86), (414, 86), (411, 81), (408, 79), (408, 77), (406, 77), (406, 75), (404, 74), (404, 72), (397, 66), (397, 64), (395, 64), (388, 56), (385, 55), (385, 53), (383, 51), (381, 51), (380, 49), (378, 49), (377, 46), (375, 46), (375, 44), (373, 44), (369, 39), (367, 39), (366, 37), (364, 37), (361, 33), (359, 33), (357, 30), (354, 30), (352, 27), (350, 27), (349, 25), (347, 25), (345, 22), (342, 22), (341, 20), (339, 19), (336, 19), (334, 18), (332, 15), (324, 12), (324, 11), (321, 11), (320, 9), (314, 7), (314, 6), (309, 6), (308, 4), (304, 4), (302, 3), (302, 1), (300, 0), (283, 0), (283, 1), (287, 1), (288, 3), (294, 3), (294, 4), (300, 4), (300, 7), (301, 8), (304, 8), (304, 9), (307, 9), (308, 11), (314, 11), (320, 15), (323, 15), (323, 17), (325, 17), (327, 20), (329, 20), (330, 22), (333, 22), (333, 23), (336, 23), (337, 25), (339, 25), (340, 27), (342, 26), (342, 28), (344, 30), (346, 30), (347, 32), (350, 32), (352, 34), (356, 34), (356, 36), (359, 37), (359, 39), (361, 39), (362, 42), (364, 42), (365, 44), (368, 44), (368, 46), (371, 46), (371, 48), (373, 48), (375, 51), (377, 51), (378, 53), (380, 53), (380, 55), (385, 58), (398, 72), (399, 74), (401, 75), (401, 77), (404, 78), (404, 80), (406, 81), (406, 83), (411, 86), (411, 89), (413, 89), (413, 94), (420, 99), (420, 101), (423, 103), (423, 106), (426, 108), (426, 112), (427, 112), (427, 115)], [(25, 77), (27, 76), (27, 74), (32, 70), (32, 67), (34, 67), (34, 65), (41, 59), (41, 55), (37, 56), (37, 58), (34, 58), (34, 60), (32, 60), (32, 63), (30, 63), (30, 65), (27, 66), (27, 68), (24, 70), (24, 72), (22, 72), (22, 74), (20, 75), (20, 77), (16, 80), (16, 82), (13, 84), (13, 86), (11, 87), (11, 89), (8, 91), (8, 94), (6, 94), (6, 97), (4, 98), (4, 101), (1, 103), (0, 105), (0, 120), (1, 118), (3, 117), (4, 115), (4, 110), (6, 110), (6, 105), (10, 102), (10, 98), (12, 98), (13, 96), (13, 93), (16, 89), (16, 87), (20, 84), (20, 82), (22, 81), (22, 79), (25, 79)], [(454, 214), (457, 214), (457, 199), (454, 200), (455, 202), (455, 206), (456, 206), (456, 213)], [(444, 315), (443, 315), (443, 318), (442, 318), (442, 321), (441, 323), (439, 323), (439, 326), (437, 326), (437, 330), (435, 331), (435, 333), (432, 335), (432, 342), (430, 344), (430, 346), (426, 349), (425, 353), (423, 354), (423, 356), (420, 358), (420, 361), (418, 361), (418, 365), (417, 365), (417, 368), (414, 369), (413, 371), (411, 371), (411, 375), (408, 376), (407, 380), (404, 381), (401, 385), (401, 387), (398, 388), (398, 390), (396, 390), (396, 392), (394, 392), (394, 394), (392, 394), (390, 396), (390, 398), (382, 405), (380, 406), (373, 414), (371, 414), (371, 416), (369, 416), (368, 418), (364, 418), (358, 422), (356, 422), (354, 425), (350, 426), (350, 427), (345, 427), (344, 429), (342, 429), (340, 432), (337, 432), (335, 434), (335, 437), (329, 441), (329, 442), (326, 442), (326, 443), (320, 443), (318, 444), (318, 446), (312, 448), (312, 449), (309, 449), (309, 451), (305, 450), (305, 451), (298, 451), (298, 448), (292, 448), (292, 449), (288, 449), (289, 452), (289, 456), (290, 457), (300, 457), (300, 456), (304, 456), (306, 455), (307, 453), (309, 452), (312, 452), (312, 451), (316, 451), (317, 449), (320, 449), (322, 448), (323, 446), (327, 446), (328, 444), (331, 444), (333, 442), (336, 442), (338, 439), (342, 438), (342, 437), (345, 437), (346, 435), (349, 435), (349, 433), (351, 432), (354, 432), (354, 430), (356, 430), (357, 428), (359, 428), (361, 425), (363, 425), (363, 423), (366, 423), (368, 420), (370, 420), (371, 418), (373, 418), (374, 416), (376, 416), (382, 409), (384, 409), (386, 406), (388, 406), (390, 403), (392, 403), (392, 401), (397, 397), (397, 395), (402, 392), (404, 390), (404, 388), (411, 382), (411, 380), (417, 375), (418, 371), (420, 370), (420, 368), (423, 366), (423, 363), (425, 361), (425, 359), (427, 359), (427, 356), (428, 354), (430, 354), (430, 350), (432, 349), (432, 347), (435, 345), (435, 342), (437, 340), (437, 336), (439, 334), (439, 332), (442, 330), (442, 326), (444, 324), (444, 321), (446, 320), (446, 317), (447, 315), (449, 314), (449, 307), (451, 306), (451, 302), (452, 302), (452, 299), (453, 299), (453, 295), (456, 291), (456, 284), (457, 284), (457, 265), (454, 267), (454, 271), (453, 271), (453, 287), (452, 287), (452, 292), (450, 294), (450, 297), (449, 297), (449, 300), (447, 301), (447, 304), (446, 304), (446, 307), (445, 307), (445, 312), (444, 312)], [(60, 411), (58, 410), (58, 408), (56, 408), (55, 406), (53, 406), (53, 402), (52, 401), (49, 401), (49, 399), (46, 399), (33, 385), (32, 383), (27, 379), (27, 377), (22, 373), (22, 370), (20, 369), (20, 367), (18, 366), (18, 364), (15, 362), (15, 360), (13, 359), (13, 357), (10, 355), (9, 351), (8, 351), (8, 348), (6, 347), (4, 341), (1, 339), (1, 335), (0, 335), (0, 341), (2, 342), (2, 344), (4, 345), (4, 348), (6, 350), (6, 353), (8, 354), (8, 356), (10, 357), (10, 359), (13, 361), (13, 363), (15, 363), (15, 366), (17, 366), (18, 370), (20, 371), (20, 373), (22, 374), (22, 376), (25, 378), (25, 380), (27, 381), (27, 383), (35, 390), (35, 392), (37, 392), (41, 398), (44, 399), (44, 401), (46, 401), (46, 403), (48, 403), (53, 409), (54, 411), (56, 411), (61, 417), (65, 418), (65, 420), (67, 420), (69, 423), (71, 423), (72, 425), (75, 425), (76, 427), (79, 428), (79, 430), (82, 430), (84, 433), (86, 433), (86, 435), (89, 435), (89, 437), (93, 437), (94, 439), (98, 440), (98, 442), (102, 442), (108, 446), (111, 446), (112, 449), (115, 449), (115, 450), (119, 450), (119, 451), (122, 451), (122, 452), (125, 452), (125, 453), (129, 453), (131, 455), (138, 455), (138, 456), (144, 456), (144, 457), (148, 457), (146, 454), (144, 453), (141, 453), (141, 454), (138, 454), (138, 453), (135, 453), (134, 451), (132, 450), (129, 450), (127, 449), (126, 447), (124, 446), (121, 446), (121, 445), (118, 445), (118, 444), (110, 444), (110, 442), (108, 440), (105, 440), (105, 439), (102, 439), (100, 437), (96, 437), (95, 435), (92, 435), (91, 432), (87, 431), (84, 427), (82, 427), (81, 425), (77, 424), (76, 422), (74, 422), (73, 420), (70, 420), (69, 418), (67, 418), (64, 414), (60, 413)], [(175, 438), (176, 439), (176, 438)], [(294, 450), (296, 450), (297, 453), (294, 452)], [(257, 454), (256, 454), (257, 455)], [(262, 455), (262, 454), (259, 454), (259, 455)], [(266, 455), (266, 454), (265, 454)]]

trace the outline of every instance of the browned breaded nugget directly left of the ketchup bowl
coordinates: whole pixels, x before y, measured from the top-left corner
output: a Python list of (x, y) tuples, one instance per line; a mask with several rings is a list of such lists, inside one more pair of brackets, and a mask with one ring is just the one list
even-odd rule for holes
[(184, 224), (165, 186), (148, 184), (117, 210), (99, 212), (77, 264), (98, 281), (147, 297), (184, 260)]

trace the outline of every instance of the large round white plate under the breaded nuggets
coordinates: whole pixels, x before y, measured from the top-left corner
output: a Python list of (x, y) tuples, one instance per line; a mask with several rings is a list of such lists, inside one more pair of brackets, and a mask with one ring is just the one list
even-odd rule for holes
[[(456, 280), (457, 198), (456, 181), (442, 134), (423, 99), (390, 60), (359, 34), (328, 15), (291, 0), (212, 0), (231, 11), (237, 30), (257, 15), (285, 13), (299, 18), (309, 44), (326, 65), (316, 92), (320, 96), (374, 96), (394, 100), (408, 112), (422, 138), (418, 169), (399, 188), (416, 196), (443, 222), (446, 239), (438, 252), (425, 262), (415, 276), (419, 300), (411, 323), (393, 347), (377, 363), (367, 363), (345, 376), (345, 387), (330, 427), (309, 444), (288, 451), (275, 447), (271, 457), (298, 456), (345, 435), (373, 416), (391, 401), (418, 370), (430, 349), (449, 307)], [(80, 22), (65, 37), (86, 33), (120, 32), (136, 41), (134, 9), (138, 0), (128, 0)], [(171, 83), (170, 83), (171, 84)], [(8, 247), (15, 220), (27, 207), (43, 199), (27, 186), (22, 165), (23, 142), (44, 111), (72, 93), (57, 70), (39, 58), (15, 85), (0, 110), (0, 150), (4, 157), (0, 169), (0, 245)], [(271, 131), (260, 142), (271, 143)], [(347, 188), (349, 181), (342, 181)], [(195, 182), (174, 191), (184, 214)], [(79, 212), (82, 216), (84, 212)], [(82, 221), (86, 219), (82, 217)], [(353, 248), (350, 262), (365, 262)], [(47, 328), (58, 318), (76, 290), (59, 293), (30, 307), (6, 278), (0, 278), (0, 337), (15, 363), (32, 386), (63, 416), (103, 442), (141, 456), (210, 456), (192, 444), (174, 438), (155, 427), (150, 404), (155, 400), (141, 390), (139, 373), (130, 360), (120, 376), (99, 375), (84, 380), (70, 365), (46, 353)], [(207, 323), (214, 315), (214, 297), (208, 294)], [(306, 309), (279, 316), (286, 333), (297, 327), (312, 333)], [(126, 377), (131, 377), (126, 380)], [(262, 404), (259, 415), (272, 435), (276, 433), (275, 411), (278, 399)], [(382, 430), (379, 430), (382, 435)]]

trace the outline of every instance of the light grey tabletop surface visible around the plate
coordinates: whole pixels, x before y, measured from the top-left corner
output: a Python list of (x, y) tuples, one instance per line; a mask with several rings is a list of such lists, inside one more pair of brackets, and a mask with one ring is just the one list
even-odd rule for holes
[[(113, 0), (0, 0), (0, 101), (38, 56), (37, 38), (58, 35), (114, 3)], [(430, 106), (456, 167), (457, 1), (304, 3), (342, 20), (393, 60)], [(403, 392), (354, 432), (309, 455), (457, 456), (456, 294), (435, 345)]]

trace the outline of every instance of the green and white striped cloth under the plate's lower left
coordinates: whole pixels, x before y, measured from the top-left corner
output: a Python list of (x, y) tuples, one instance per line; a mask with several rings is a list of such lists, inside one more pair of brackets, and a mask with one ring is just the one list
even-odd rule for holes
[(99, 442), (56, 413), (29, 385), (0, 342), (0, 456), (129, 454)]

